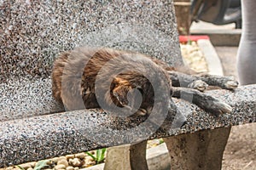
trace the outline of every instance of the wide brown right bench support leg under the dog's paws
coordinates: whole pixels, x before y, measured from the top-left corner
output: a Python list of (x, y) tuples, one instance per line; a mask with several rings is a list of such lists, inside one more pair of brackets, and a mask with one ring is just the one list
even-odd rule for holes
[(164, 139), (172, 169), (220, 170), (230, 128), (221, 127)]

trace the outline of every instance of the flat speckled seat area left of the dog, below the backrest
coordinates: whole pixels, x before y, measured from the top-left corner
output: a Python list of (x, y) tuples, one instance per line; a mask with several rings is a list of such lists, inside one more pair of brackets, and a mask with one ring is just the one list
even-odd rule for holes
[(51, 95), (49, 78), (26, 78), (0, 84), (0, 120), (9, 121), (64, 111)]

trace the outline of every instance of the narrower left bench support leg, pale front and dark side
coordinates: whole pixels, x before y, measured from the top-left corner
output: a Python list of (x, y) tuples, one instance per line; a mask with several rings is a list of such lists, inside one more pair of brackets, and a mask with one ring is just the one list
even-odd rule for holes
[(104, 170), (148, 170), (147, 141), (108, 148)]

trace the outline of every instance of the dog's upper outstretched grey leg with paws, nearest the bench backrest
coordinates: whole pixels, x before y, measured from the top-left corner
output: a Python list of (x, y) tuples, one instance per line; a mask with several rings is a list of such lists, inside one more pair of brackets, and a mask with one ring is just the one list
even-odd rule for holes
[(238, 82), (233, 77), (221, 77), (208, 74), (189, 75), (180, 71), (168, 71), (172, 79), (172, 86), (195, 88), (200, 91), (207, 89), (207, 85), (217, 86), (219, 88), (234, 90)]

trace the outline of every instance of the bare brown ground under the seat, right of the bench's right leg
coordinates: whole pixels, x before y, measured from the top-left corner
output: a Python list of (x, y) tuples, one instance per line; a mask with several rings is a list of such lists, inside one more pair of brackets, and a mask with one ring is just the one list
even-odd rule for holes
[(256, 123), (231, 128), (224, 151), (223, 170), (256, 169)]

